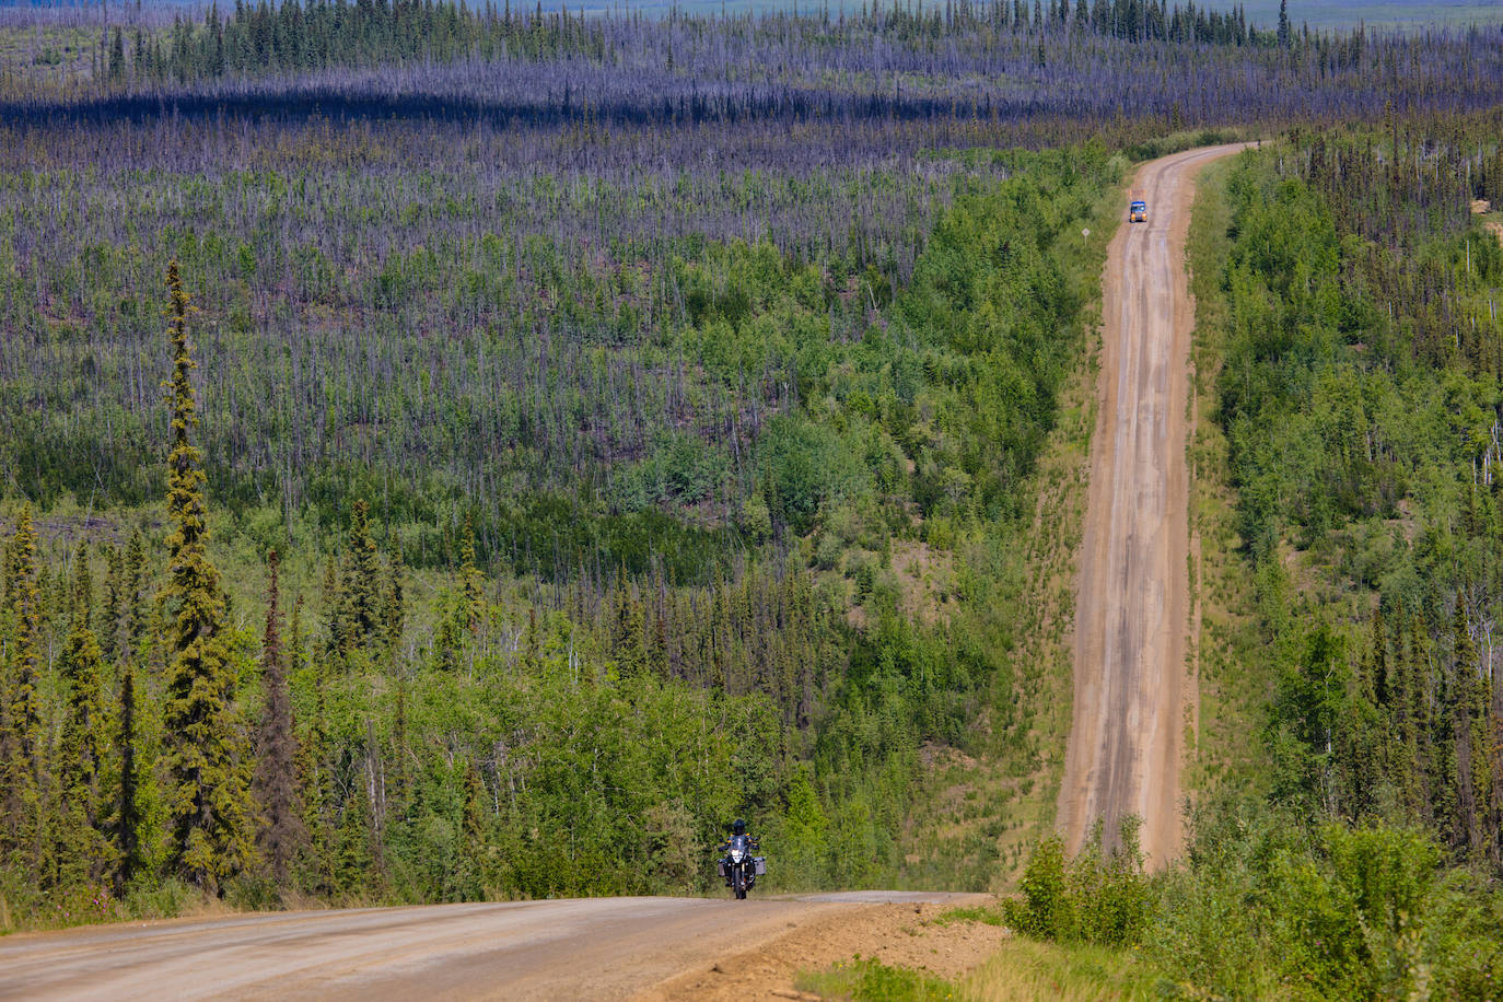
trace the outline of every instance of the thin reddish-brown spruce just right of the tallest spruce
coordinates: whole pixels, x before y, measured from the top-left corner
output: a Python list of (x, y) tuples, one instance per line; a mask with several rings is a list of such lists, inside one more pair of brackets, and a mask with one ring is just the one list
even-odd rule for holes
[(256, 757), (254, 793), (262, 808), (257, 844), (271, 865), (272, 879), (286, 886), (289, 868), (307, 837), (298, 805), (298, 736), (293, 733), (292, 690), (281, 644), (281, 610), (277, 595), (277, 551), (266, 557), (266, 634), (262, 643), (262, 714)]

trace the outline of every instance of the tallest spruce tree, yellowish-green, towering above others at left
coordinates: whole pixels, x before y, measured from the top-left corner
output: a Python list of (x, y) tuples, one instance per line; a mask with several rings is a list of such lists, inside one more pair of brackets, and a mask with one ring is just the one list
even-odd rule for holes
[(189, 373), (188, 293), (177, 261), (167, 269), (171, 290), (168, 335), (173, 344), (171, 454), (167, 458), (167, 538), (171, 614), (168, 635), (167, 804), (170, 867), (204, 894), (221, 894), (227, 877), (251, 862), (249, 792), (245, 739), (234, 712), (233, 672), (222, 637), (224, 596), (209, 560), (203, 496), (204, 475), (189, 433), (197, 425)]

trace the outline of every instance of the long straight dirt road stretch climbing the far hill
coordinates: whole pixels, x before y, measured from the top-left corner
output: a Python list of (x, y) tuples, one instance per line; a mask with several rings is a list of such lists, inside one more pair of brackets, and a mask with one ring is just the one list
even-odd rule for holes
[(1111, 838), (1121, 817), (1138, 814), (1151, 867), (1180, 849), (1180, 760), (1195, 702), (1184, 665), (1195, 323), (1184, 240), (1196, 174), (1240, 149), (1189, 150), (1139, 168), (1130, 188), (1147, 200), (1148, 221), (1121, 224), (1103, 273), (1100, 410), (1058, 826), (1075, 852), (1097, 819)]

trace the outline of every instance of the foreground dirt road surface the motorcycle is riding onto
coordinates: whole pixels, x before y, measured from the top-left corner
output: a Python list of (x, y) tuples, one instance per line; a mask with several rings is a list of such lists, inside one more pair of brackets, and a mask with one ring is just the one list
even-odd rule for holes
[[(947, 901), (965, 900), (902, 892), (750, 901), (583, 898), (98, 925), (0, 939), (0, 997), (585, 1002), (640, 991), (690, 997), (682, 988), (655, 985), (685, 973), (717, 973), (717, 963), (730, 969), (736, 957), (744, 964), (748, 951), (777, 955), (789, 936), (818, 937), (831, 922), (849, 928), (894, 910), (942, 910)], [(849, 952), (843, 942), (831, 946), (828, 960), (812, 951), (807, 960), (788, 958), (783, 966), (791, 972), (851, 952), (867, 955), (878, 945), (860, 931), (851, 942), (857, 945)], [(791, 973), (742, 979), (741, 997), (770, 997), (756, 987), (771, 990), (785, 981), (791, 987)]]

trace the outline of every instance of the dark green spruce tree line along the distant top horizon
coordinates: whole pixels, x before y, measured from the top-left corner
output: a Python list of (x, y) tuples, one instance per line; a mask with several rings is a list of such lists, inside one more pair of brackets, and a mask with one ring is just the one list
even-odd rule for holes
[[(783, 17), (776, 18), (783, 21)], [(723, 27), (748, 30), (752, 21), (736, 17), (726, 26), (715, 18), (673, 14), (685, 32), (703, 35)], [(642, 30), (640, 15), (571, 15), (568, 9), (544, 14), (519, 5), (469, 9), (431, 0), (283, 0), (281, 5), (236, 0), (221, 14), (210, 6), (201, 21), (176, 18), (167, 32), (113, 29), (99, 45), (95, 78), (108, 84), (131, 81), (209, 80), (266, 72), (328, 69), (331, 66), (379, 66), (415, 60), (457, 59), (585, 59), (619, 63), (630, 54), (631, 32)], [(765, 30), (765, 29), (764, 29)], [(1249, 29), (1243, 11), (1229, 12), (1159, 3), (1157, 0), (1049, 0), (1048, 9), (1025, 3), (947, 3), (944, 9), (879, 5), (837, 23), (824, 18), (801, 26), (797, 33), (849, 42), (870, 33), (902, 44), (923, 44), (975, 32), (1049, 33), (1054, 36), (1097, 35), (1129, 42), (1189, 42), (1213, 45), (1267, 44)], [(1284, 33), (1281, 44), (1288, 44)], [(1341, 45), (1336, 36), (1332, 44)], [(667, 51), (672, 69), (673, 54)]]

